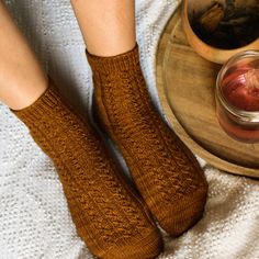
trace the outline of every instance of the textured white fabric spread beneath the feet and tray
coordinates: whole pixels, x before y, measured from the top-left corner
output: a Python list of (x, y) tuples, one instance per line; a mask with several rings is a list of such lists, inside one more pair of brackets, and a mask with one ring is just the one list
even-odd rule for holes
[[(7, 0), (43, 65), (70, 101), (87, 112), (91, 74), (67, 0)], [(159, 34), (174, 0), (137, 0), (137, 36), (151, 95)], [(210, 183), (205, 214), (179, 238), (165, 235), (160, 259), (259, 258), (259, 181), (226, 174), (203, 161)], [(165, 207), (166, 210), (166, 207)], [(77, 237), (50, 160), (0, 104), (0, 259), (91, 259)]]

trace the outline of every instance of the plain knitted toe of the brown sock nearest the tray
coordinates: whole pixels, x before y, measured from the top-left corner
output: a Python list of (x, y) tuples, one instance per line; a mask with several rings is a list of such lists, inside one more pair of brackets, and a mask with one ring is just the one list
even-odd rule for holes
[(171, 236), (180, 236), (202, 217), (206, 194), (207, 187), (203, 187), (171, 204), (171, 207), (165, 207), (167, 211), (158, 218), (160, 226)]

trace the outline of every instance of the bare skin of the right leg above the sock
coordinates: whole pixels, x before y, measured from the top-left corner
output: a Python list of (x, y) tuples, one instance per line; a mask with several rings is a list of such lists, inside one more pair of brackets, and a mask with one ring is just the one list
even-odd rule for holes
[(97, 56), (115, 56), (134, 48), (134, 0), (71, 0), (87, 49)]

